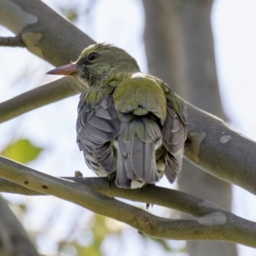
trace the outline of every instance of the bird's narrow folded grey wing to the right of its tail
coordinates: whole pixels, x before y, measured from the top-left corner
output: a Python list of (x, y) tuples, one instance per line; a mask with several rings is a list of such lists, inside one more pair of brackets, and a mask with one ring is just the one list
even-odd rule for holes
[(166, 98), (167, 115), (163, 127), (163, 145), (168, 152), (165, 175), (170, 182), (174, 182), (182, 166), (188, 116), (184, 101), (172, 90), (167, 93)]

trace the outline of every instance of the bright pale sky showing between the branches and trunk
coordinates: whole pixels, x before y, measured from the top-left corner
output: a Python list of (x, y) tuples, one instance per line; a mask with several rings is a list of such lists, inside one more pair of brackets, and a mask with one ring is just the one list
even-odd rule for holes
[[(147, 60), (143, 45), (143, 6), (137, 0), (99, 1), (91, 13), (86, 13), (86, 3), (81, 1), (45, 0), (51, 8), (58, 11), (60, 6), (79, 6), (77, 13), (81, 15), (75, 22), (82, 31), (97, 42), (109, 42), (127, 50), (140, 64), (141, 70), (147, 72)], [(112, 8), (111, 6), (115, 6)], [(132, 19), (131, 19), (132, 13)], [(92, 17), (97, 19), (92, 21)], [(230, 125), (246, 136), (256, 140), (256, 1), (255, 0), (215, 0), (212, 9), (212, 29), (216, 50), (216, 64), (220, 83), (221, 99)], [(0, 28), (1, 36), (12, 35), (4, 28)], [(52, 80), (52, 76), (45, 73), (52, 68), (39, 58), (30, 54), (26, 49), (11, 49), (0, 47), (0, 101), (10, 99), (15, 95), (26, 92)], [(93, 176), (86, 169), (82, 154), (76, 145), (76, 109), (79, 96), (70, 97), (44, 108), (36, 109), (0, 125), (0, 151), (15, 138), (29, 138), (44, 152), (36, 161), (29, 164), (41, 172), (56, 176), (73, 176), (75, 170), (81, 170), (84, 176)], [(50, 129), (51, 128), (51, 129)], [(15, 138), (13, 138), (13, 134)], [(170, 184), (164, 178), (159, 186)], [(173, 188), (173, 187), (172, 187)], [(218, 188), (216, 188), (218, 189)], [(28, 214), (23, 223), (28, 230), (46, 230), (46, 235), (39, 236), (38, 246), (42, 252), (54, 255), (56, 239), (70, 238), (70, 225), (79, 226), (72, 237), (87, 237), (81, 244), (90, 244), (92, 234), (86, 230), (92, 213), (74, 204), (50, 196), (36, 197), (4, 195), (13, 202), (26, 202)], [(255, 196), (234, 186), (233, 212), (248, 220), (256, 221)], [(54, 215), (52, 210), (54, 209)], [(163, 207), (150, 209), (154, 214), (168, 216)], [(80, 216), (85, 216), (80, 218)], [(116, 221), (109, 221), (109, 225), (118, 228)], [(64, 225), (63, 225), (64, 224)], [(51, 228), (50, 228), (51, 227)], [(136, 230), (124, 229), (125, 242), (122, 244), (124, 255), (144, 255), (141, 248), (141, 238)], [(134, 236), (134, 239), (131, 237)], [(72, 238), (71, 237), (71, 238)], [(108, 237), (111, 242), (113, 237)], [(118, 244), (105, 241), (102, 250), (106, 255), (118, 250)], [(134, 244), (136, 252), (129, 244)], [(138, 243), (138, 244), (136, 244)], [(110, 244), (110, 245), (109, 245)], [(181, 241), (171, 241), (172, 246), (182, 248)], [(159, 247), (150, 245), (147, 255), (182, 255), (159, 252)], [(238, 246), (239, 255), (256, 256), (256, 250), (246, 246)], [(51, 254), (52, 253), (52, 254)], [(162, 253), (162, 254), (161, 254)], [(72, 253), (71, 253), (72, 255)]]

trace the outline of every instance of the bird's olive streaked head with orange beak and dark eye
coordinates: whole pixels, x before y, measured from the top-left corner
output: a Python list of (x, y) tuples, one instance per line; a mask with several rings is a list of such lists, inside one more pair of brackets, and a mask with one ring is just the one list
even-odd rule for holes
[(76, 62), (47, 74), (77, 77), (86, 86), (93, 86), (118, 72), (140, 72), (140, 68), (123, 49), (110, 44), (92, 44), (84, 49)]

